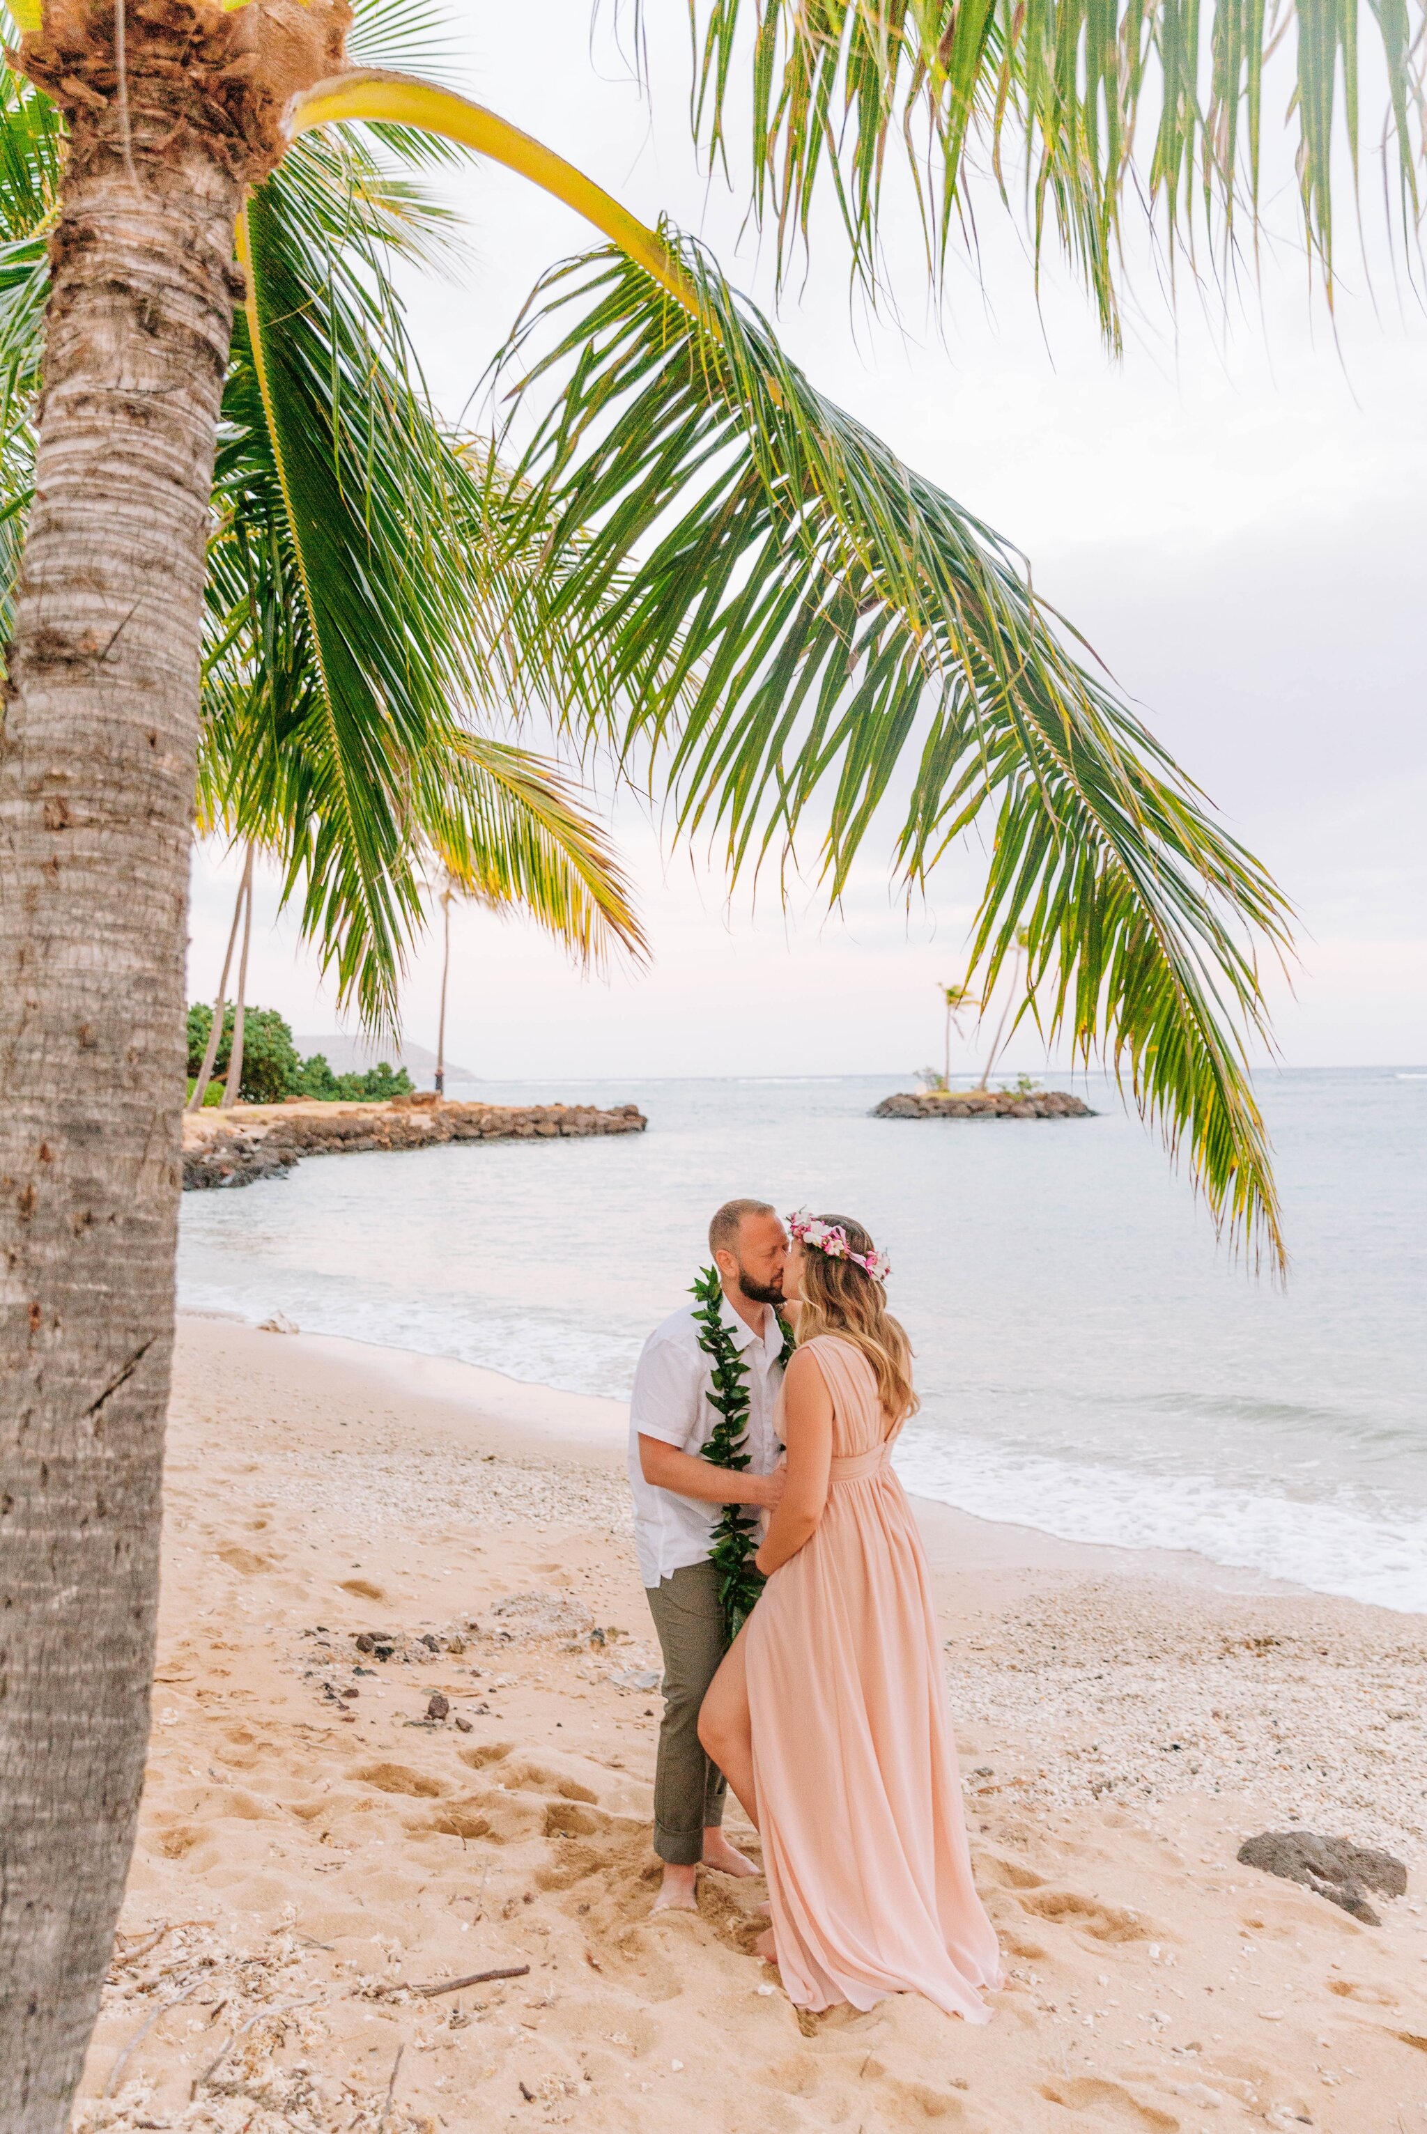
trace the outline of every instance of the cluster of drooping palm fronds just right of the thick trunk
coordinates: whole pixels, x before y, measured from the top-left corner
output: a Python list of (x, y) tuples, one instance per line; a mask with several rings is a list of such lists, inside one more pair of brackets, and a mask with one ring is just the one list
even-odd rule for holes
[[(395, 1024), (435, 845), (578, 956), (640, 950), (608, 845), (552, 770), (501, 753), (480, 487), (437, 425), (388, 254), (427, 243), (350, 139), (301, 141), (245, 216), (215, 472), (201, 802), (284, 851), (341, 1001)], [(508, 849), (501, 849), (508, 839)]]

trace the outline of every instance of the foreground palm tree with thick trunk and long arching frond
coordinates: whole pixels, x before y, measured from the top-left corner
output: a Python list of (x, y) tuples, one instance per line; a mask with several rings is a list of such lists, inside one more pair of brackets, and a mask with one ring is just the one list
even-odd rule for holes
[[(990, 811), (983, 984), (1030, 924), (1045, 1020), (1107, 1041), (1214, 1210), (1278, 1248), (1244, 1063), (1254, 956), (1286, 928), (1263, 869), (1013, 553), (825, 401), (702, 250), (495, 113), (363, 64), (350, 21), (343, 0), (17, 6), (17, 66), (68, 134), (38, 152), (36, 256), (0, 282), (9, 318), (45, 312), (0, 743), (6, 2134), (64, 2123), (143, 1775), (186, 875), (226, 540), (273, 542), (290, 587), (256, 615), (254, 672), (296, 634), (320, 672), (307, 753), (269, 751), (322, 798), (301, 817), (307, 905), (363, 903), (399, 941), (403, 779), (452, 702), (550, 702), (666, 785), (683, 832), (717, 828), (734, 871), (796, 856), (817, 822), (832, 896), (911, 760), (909, 886)], [(941, 53), (924, 62), (941, 81)], [(448, 448), (414, 380), (365, 367), (371, 286), (322, 307), (326, 209), (305, 235), (299, 209), (322, 192), (314, 132), (352, 124), (493, 156), (614, 248), (548, 280), (516, 339), (535, 423), (510, 474)], [(356, 992), (363, 956), (335, 954)]]

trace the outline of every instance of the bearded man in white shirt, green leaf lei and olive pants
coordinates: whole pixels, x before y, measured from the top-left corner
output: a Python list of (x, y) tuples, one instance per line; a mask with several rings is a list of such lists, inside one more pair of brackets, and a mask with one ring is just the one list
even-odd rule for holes
[(648, 1611), (663, 1652), (663, 1724), (655, 1769), (655, 1852), (663, 1886), (655, 1912), (695, 1910), (700, 1863), (751, 1876), (757, 1867), (723, 1835), (727, 1782), (698, 1735), (700, 1705), (723, 1658), (719, 1579), (708, 1560), (723, 1504), (772, 1511), (783, 1494), (772, 1408), (783, 1368), (783, 1263), (787, 1231), (768, 1201), (725, 1201), (708, 1225), (723, 1287), (723, 1323), (747, 1364), (749, 1430), (744, 1472), (702, 1460), (719, 1411), (708, 1400), (710, 1359), (700, 1349), (693, 1306), (666, 1319), (634, 1374), (629, 1481), (634, 1536)]

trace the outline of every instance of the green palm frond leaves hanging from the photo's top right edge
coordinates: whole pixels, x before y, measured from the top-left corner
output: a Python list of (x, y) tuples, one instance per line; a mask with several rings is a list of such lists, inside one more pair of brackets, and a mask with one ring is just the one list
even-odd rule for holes
[[(994, 171), (1009, 192), (1020, 166), (1037, 256), (1054, 226), (1116, 341), (1122, 209), (1141, 175), (1175, 243), (1192, 239), (1197, 207), (1224, 252), (1235, 216), (1256, 220), (1265, 77), (1284, 92), (1303, 230), (1329, 292), (1335, 162), (1357, 194), (1365, 64), (1382, 83), (1372, 137), (1389, 216), (1408, 237), (1418, 228), (1427, 13), (1423, 0), (1372, 0), (1367, 17), (1363, 36), (1357, 0), (691, 0), (693, 126), (727, 160), (747, 113), (753, 205), (783, 265), (828, 190), (868, 282), (889, 154), (907, 156), (936, 269), (973, 216), (973, 181)], [(1276, 68), (1288, 34), (1293, 58)], [(1137, 173), (1141, 128), (1152, 139)]]

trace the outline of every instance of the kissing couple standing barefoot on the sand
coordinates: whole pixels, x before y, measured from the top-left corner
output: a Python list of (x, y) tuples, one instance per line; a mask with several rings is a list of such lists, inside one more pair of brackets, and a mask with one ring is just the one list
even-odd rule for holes
[(917, 1396), (885, 1257), (847, 1216), (783, 1223), (757, 1199), (719, 1208), (708, 1251), (717, 1287), (648, 1336), (629, 1404), (663, 1652), (655, 1910), (695, 1910), (700, 1865), (757, 1874), (723, 1835), (732, 1786), (764, 1844), (757, 1953), (798, 2008), (924, 1993), (985, 2023), (1000, 1959), (921, 1536), (889, 1462)]

